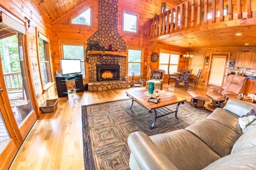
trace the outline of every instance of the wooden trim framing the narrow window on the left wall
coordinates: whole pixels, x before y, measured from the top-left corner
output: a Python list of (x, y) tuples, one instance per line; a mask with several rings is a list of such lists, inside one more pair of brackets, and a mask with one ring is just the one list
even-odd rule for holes
[[(50, 72), (50, 77), (49, 77), (49, 80), (50, 80), (50, 82), (49, 83), (47, 83), (45, 86), (44, 86), (44, 84), (43, 84), (43, 78), (42, 78), (42, 73), (41, 73), (41, 66), (40, 66), (40, 57), (39, 57), (39, 37), (40, 37), (40, 39), (42, 39), (42, 40), (44, 40), (44, 41), (46, 41), (47, 42), (47, 52), (48, 52), (48, 56), (47, 56), (47, 58), (48, 58), (48, 63), (49, 63), (49, 72)], [(46, 36), (44, 36), (43, 35), (43, 33), (41, 33), (41, 32), (39, 32), (38, 31), (38, 27), (36, 27), (36, 50), (37, 50), (37, 52), (38, 52), (38, 55), (37, 55), (37, 58), (38, 58), (38, 71), (39, 71), (39, 74), (40, 74), (40, 82), (41, 82), (41, 87), (42, 87), (42, 91), (43, 91), (43, 93), (45, 92), (45, 91), (47, 91), (48, 90), (48, 88), (50, 88), (54, 83), (53, 83), (53, 75), (52, 75), (52, 60), (51, 60), (51, 53), (50, 53), (50, 47), (49, 47), (49, 39), (48, 39), (48, 37), (46, 37)], [(36, 64), (35, 64), (36, 65)], [(34, 63), (32, 63), (32, 66), (33, 67), (35, 67), (34, 66)]]

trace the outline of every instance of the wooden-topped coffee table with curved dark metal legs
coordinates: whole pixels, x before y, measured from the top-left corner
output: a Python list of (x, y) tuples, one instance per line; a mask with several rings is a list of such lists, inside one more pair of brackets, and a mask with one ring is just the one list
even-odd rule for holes
[[(154, 111), (155, 113), (154, 122), (152, 123), (150, 129), (154, 128), (156, 118), (166, 116), (171, 113), (175, 113), (175, 118), (177, 118), (177, 112), (178, 112), (180, 103), (184, 104), (184, 101), (186, 101), (186, 99), (183, 99), (181, 97), (158, 90), (158, 93), (155, 93), (155, 94), (159, 95), (158, 98), (160, 98), (160, 100), (158, 101), (158, 103), (152, 103), (150, 101), (147, 101), (149, 96), (144, 95), (144, 92), (148, 92), (148, 90), (126, 91), (126, 95), (130, 97), (132, 101), (131, 107), (129, 109), (133, 108), (133, 103), (134, 101), (136, 101), (138, 104), (142, 105), (142, 107), (146, 108), (148, 113), (152, 113), (152, 111)], [(177, 104), (175, 111), (171, 111), (170, 109), (166, 108), (168, 105), (172, 105), (172, 104)], [(158, 110), (162, 111), (164, 114), (161, 114), (158, 116), (158, 112), (157, 112)]]

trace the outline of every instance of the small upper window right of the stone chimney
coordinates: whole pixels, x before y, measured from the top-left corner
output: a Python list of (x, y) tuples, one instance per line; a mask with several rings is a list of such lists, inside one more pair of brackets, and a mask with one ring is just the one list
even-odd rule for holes
[(137, 32), (137, 15), (123, 14), (123, 31)]

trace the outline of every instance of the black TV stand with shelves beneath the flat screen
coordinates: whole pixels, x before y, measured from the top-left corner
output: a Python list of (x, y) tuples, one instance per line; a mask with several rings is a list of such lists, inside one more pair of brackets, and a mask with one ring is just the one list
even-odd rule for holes
[(58, 97), (67, 97), (73, 92), (84, 92), (82, 74), (55, 76), (55, 79)]

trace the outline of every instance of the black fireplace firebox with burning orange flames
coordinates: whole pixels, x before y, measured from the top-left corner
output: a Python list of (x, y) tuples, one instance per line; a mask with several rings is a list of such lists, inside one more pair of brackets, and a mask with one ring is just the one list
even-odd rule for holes
[(120, 80), (119, 65), (96, 65), (97, 82), (108, 80)]

